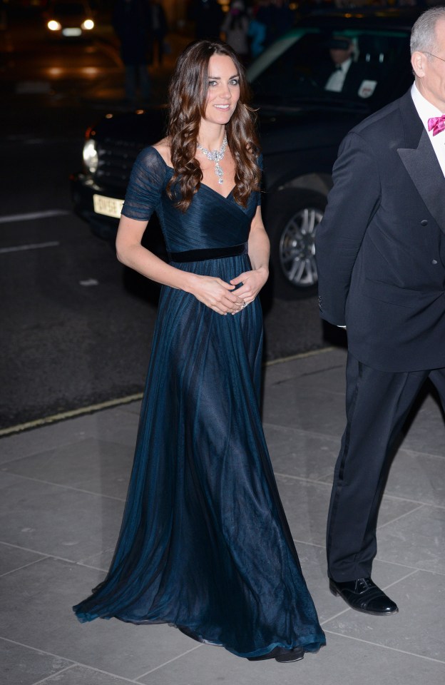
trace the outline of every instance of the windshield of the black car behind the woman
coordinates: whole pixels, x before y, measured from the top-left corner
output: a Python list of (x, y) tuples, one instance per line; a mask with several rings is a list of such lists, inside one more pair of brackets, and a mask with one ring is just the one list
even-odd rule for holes
[[(344, 39), (342, 41), (342, 39)], [(336, 42), (337, 41), (337, 42)], [(327, 90), (335, 70), (332, 47), (351, 46), (351, 66), (342, 91)], [(369, 105), (394, 99), (412, 81), (409, 34), (404, 31), (297, 30), (277, 41), (247, 71), (259, 103), (326, 101)], [(401, 92), (395, 92), (398, 87)], [(392, 94), (394, 96), (392, 97)]]

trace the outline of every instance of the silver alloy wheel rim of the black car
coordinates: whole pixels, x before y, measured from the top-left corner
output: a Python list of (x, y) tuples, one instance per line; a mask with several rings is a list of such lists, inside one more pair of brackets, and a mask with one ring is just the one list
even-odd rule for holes
[(318, 282), (315, 263), (315, 231), (322, 220), (319, 209), (307, 207), (287, 222), (280, 239), (282, 272), (292, 285), (310, 288)]

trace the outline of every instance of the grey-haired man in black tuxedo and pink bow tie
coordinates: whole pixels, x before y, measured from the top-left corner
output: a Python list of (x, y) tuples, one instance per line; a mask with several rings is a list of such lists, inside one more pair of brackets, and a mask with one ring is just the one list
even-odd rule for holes
[(445, 408), (445, 7), (414, 24), (411, 64), (411, 89), (342, 141), (316, 238), (320, 313), (348, 338), (329, 587), (379, 616), (398, 611), (371, 579), (389, 460), (426, 378)]

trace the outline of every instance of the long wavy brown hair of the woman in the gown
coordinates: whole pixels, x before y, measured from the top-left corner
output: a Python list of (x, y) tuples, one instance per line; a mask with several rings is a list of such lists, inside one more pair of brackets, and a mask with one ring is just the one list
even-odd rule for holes
[(250, 193), (260, 189), (256, 113), (248, 104), (250, 88), (244, 67), (235, 51), (222, 41), (195, 41), (180, 54), (169, 87), (167, 136), (174, 174), (168, 183), (167, 193), (183, 212), (188, 209), (203, 180), (203, 172), (195, 155), (200, 121), (205, 116), (208, 64), (212, 55), (230, 57), (240, 76), (240, 99), (225, 127), (227, 143), (235, 161), (235, 188), (232, 195), (238, 204), (245, 207)]

